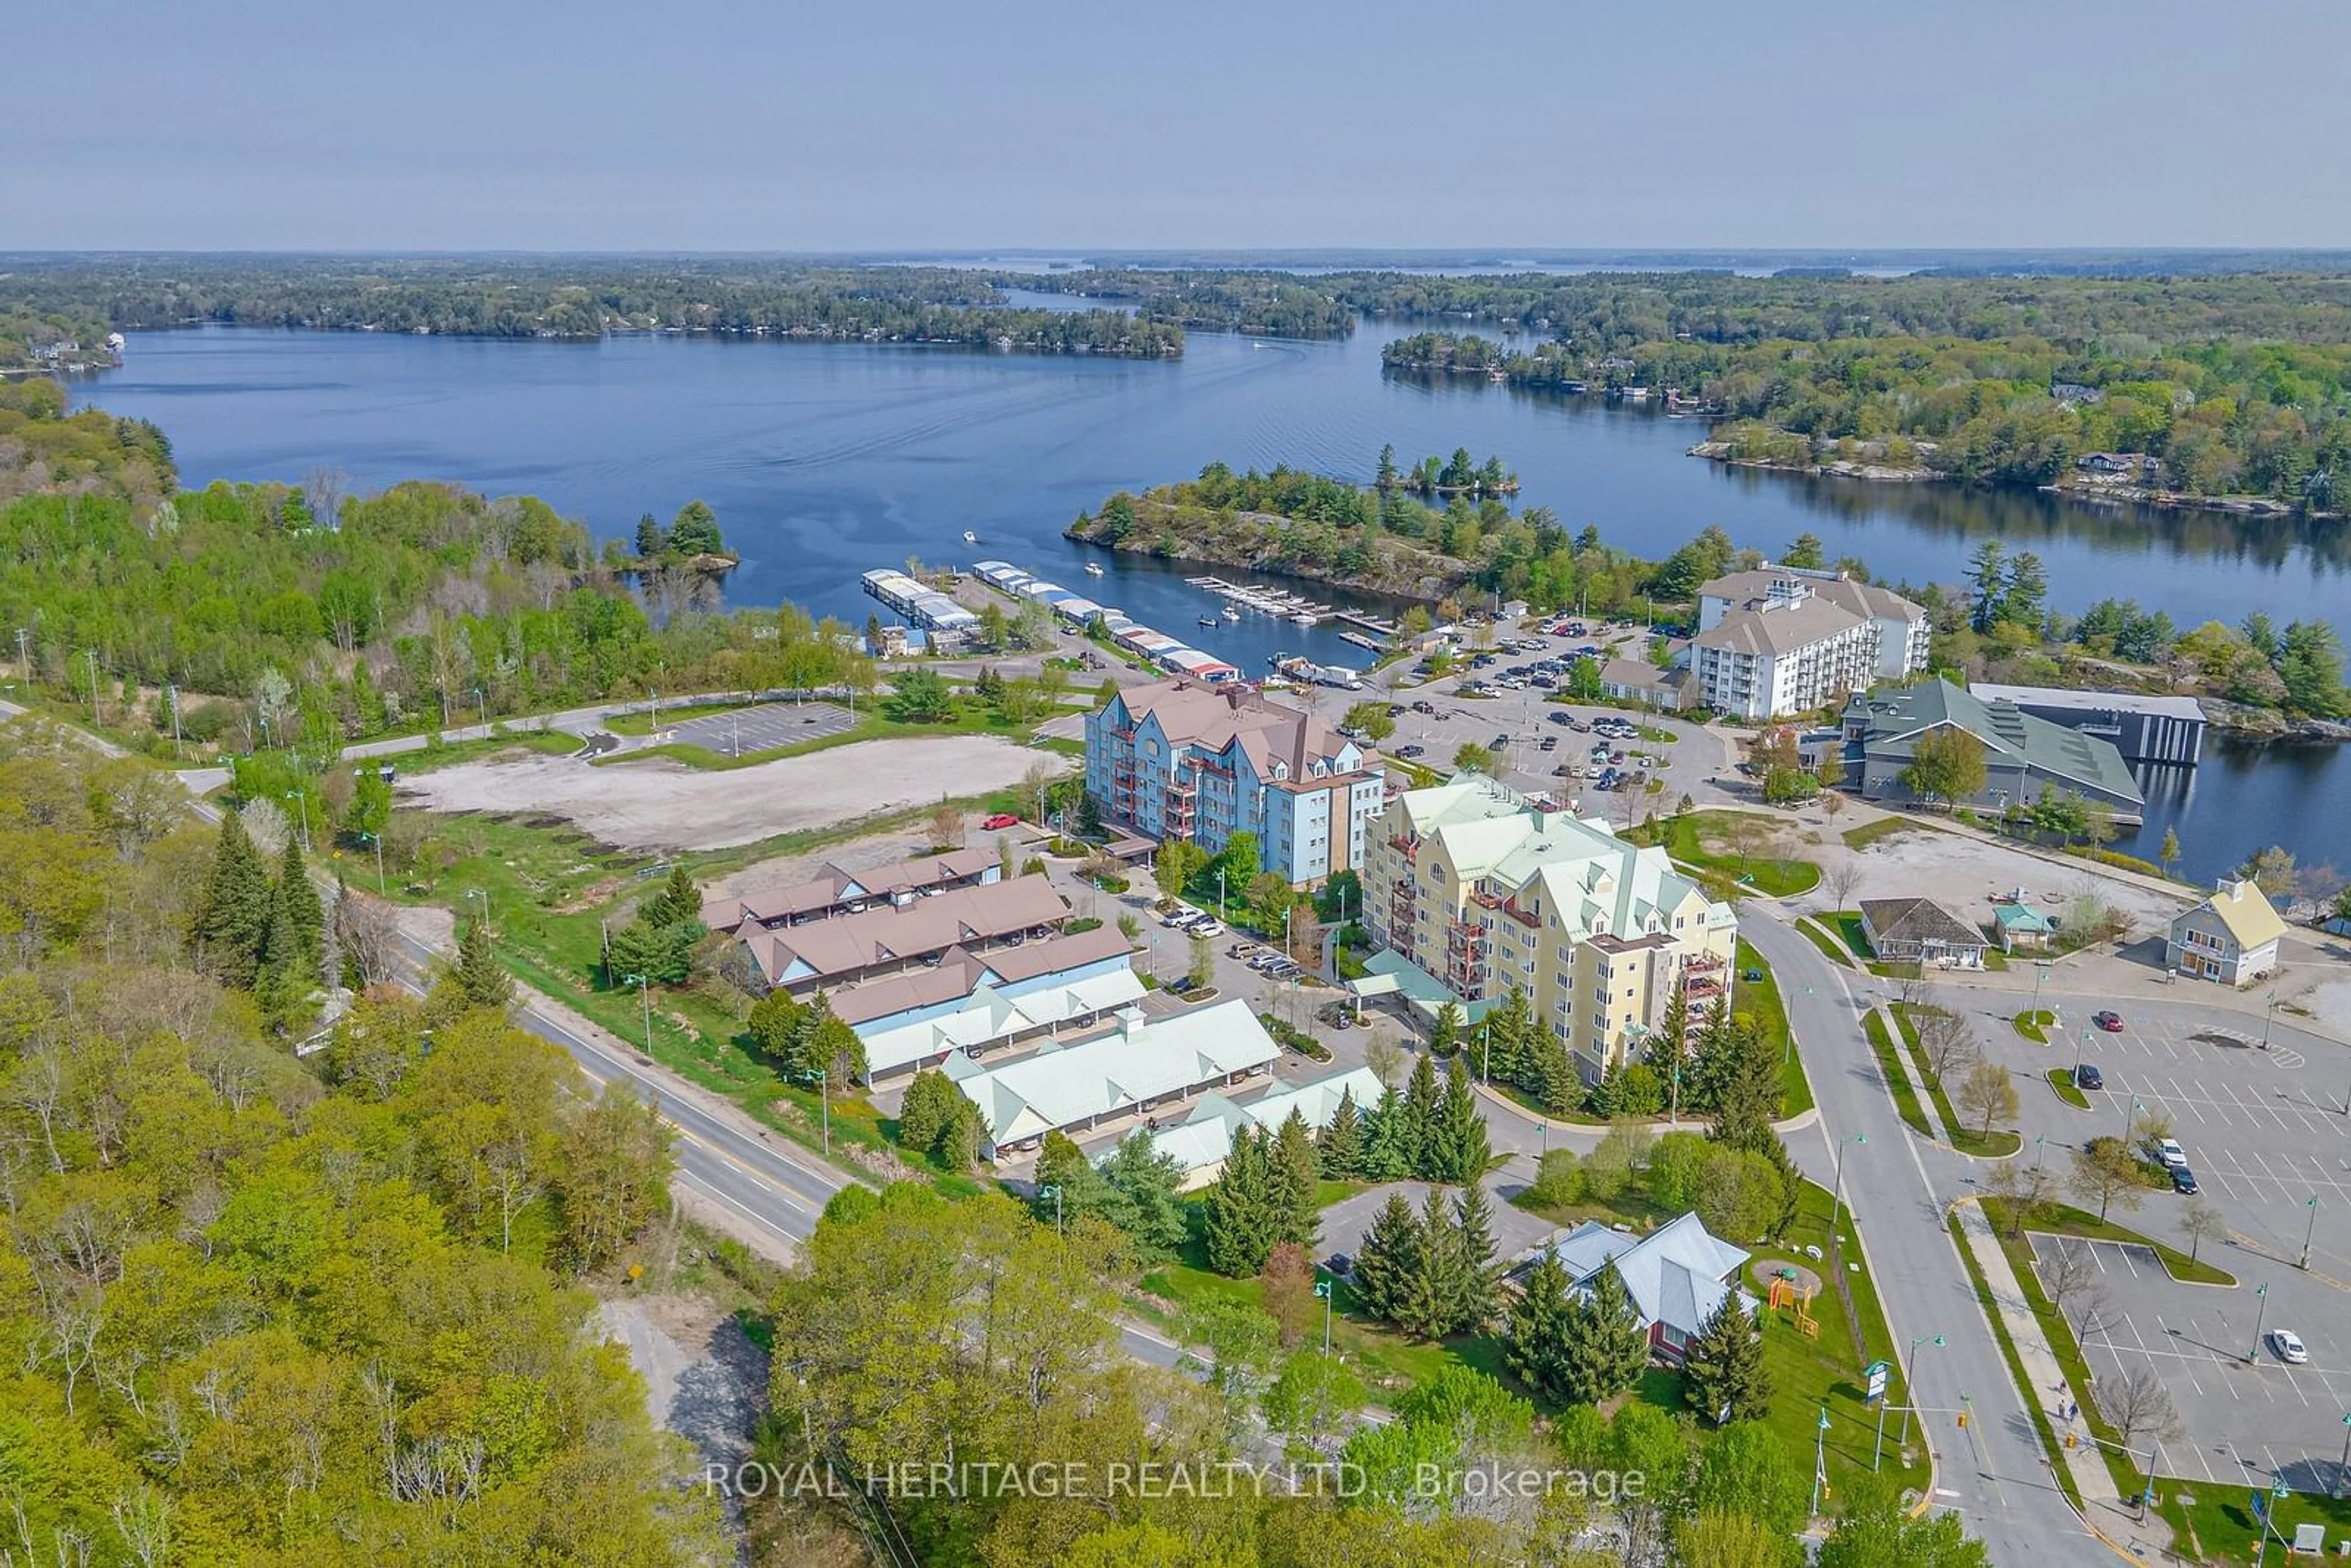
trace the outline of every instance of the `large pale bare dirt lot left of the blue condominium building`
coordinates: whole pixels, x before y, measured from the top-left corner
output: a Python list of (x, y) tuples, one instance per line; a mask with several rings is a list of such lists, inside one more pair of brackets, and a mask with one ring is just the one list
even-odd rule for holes
[(571, 757), (470, 762), (402, 785), (430, 811), (552, 813), (618, 849), (729, 849), (1020, 783), (1065, 757), (997, 736), (860, 741), (705, 773), (670, 759), (595, 769)]

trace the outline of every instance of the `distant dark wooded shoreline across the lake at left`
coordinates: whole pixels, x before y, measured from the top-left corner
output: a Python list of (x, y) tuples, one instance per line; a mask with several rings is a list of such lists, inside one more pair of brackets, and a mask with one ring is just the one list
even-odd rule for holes
[(992, 273), (788, 261), (61, 259), (0, 273), (0, 320), (12, 310), (120, 331), (195, 324), (494, 339), (710, 331), (1018, 353), (1183, 353), (1180, 327), (1124, 310), (1011, 308)]

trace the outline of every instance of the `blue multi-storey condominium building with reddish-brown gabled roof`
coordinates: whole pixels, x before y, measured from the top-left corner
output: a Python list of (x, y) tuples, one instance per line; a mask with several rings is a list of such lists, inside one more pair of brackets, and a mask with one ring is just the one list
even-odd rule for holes
[(1364, 863), (1378, 757), (1312, 712), (1237, 684), (1128, 686), (1086, 719), (1086, 790), (1103, 816), (1220, 853), (1258, 835), (1258, 863), (1293, 884)]

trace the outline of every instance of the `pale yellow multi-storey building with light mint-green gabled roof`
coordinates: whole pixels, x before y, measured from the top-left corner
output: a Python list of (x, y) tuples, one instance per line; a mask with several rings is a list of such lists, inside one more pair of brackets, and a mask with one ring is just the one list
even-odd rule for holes
[(1728, 999), (1737, 919), (1728, 903), (1601, 823), (1465, 776), (1408, 790), (1373, 823), (1364, 922), (1408, 997), (1436, 990), (1474, 1023), (1523, 987), (1587, 1081), (1636, 1060), (1674, 987), (1695, 1032)]

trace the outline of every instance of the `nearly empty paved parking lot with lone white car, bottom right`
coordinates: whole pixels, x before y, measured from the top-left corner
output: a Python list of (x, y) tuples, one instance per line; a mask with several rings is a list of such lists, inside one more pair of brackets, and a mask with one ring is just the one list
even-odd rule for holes
[[(2146, 1248), (2034, 1237), (2043, 1258), (2059, 1246), (2088, 1248), (2102, 1274), (2067, 1300), (2090, 1373), (2109, 1382), (2151, 1366), (2179, 1410), (2182, 1434), (2161, 1453), (2168, 1474), (2208, 1486), (2335, 1486), (2351, 1413), (2351, 1314), (2332, 1286), (2238, 1255), (2219, 1258), (2238, 1272), (2233, 1291), (2189, 1286)], [(2264, 1284), (2266, 1302), (2255, 1295)], [(2278, 1361), (2271, 1328), (2302, 1335), (2309, 1363)]]

